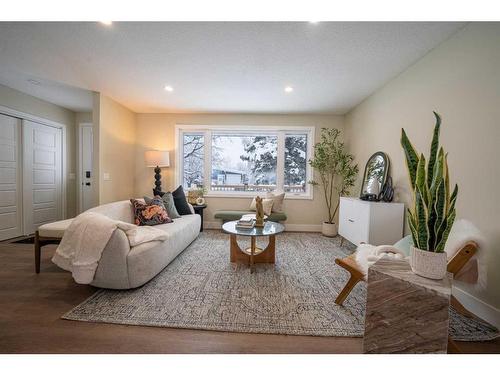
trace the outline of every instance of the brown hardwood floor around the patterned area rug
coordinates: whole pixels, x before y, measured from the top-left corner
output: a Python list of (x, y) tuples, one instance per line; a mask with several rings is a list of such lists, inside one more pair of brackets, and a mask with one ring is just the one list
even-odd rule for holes
[[(360, 353), (360, 338), (242, 334), (85, 323), (60, 319), (95, 288), (75, 284), (33, 245), (0, 243), (0, 353)], [(500, 353), (500, 340), (458, 343), (463, 352)]]

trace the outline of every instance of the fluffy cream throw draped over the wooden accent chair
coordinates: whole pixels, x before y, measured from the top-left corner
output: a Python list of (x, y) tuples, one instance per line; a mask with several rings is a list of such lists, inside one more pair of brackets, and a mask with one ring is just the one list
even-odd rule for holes
[[(463, 281), (470, 284), (475, 284), (479, 289), (486, 289), (487, 274), (486, 274), (486, 256), (487, 243), (484, 236), (481, 234), (474, 224), (468, 220), (458, 219), (451, 228), (448, 241), (446, 241), (445, 253), (450, 260), (467, 242), (475, 242), (479, 250), (467, 262), (462, 270), (455, 275), (455, 280)], [(379, 260), (383, 256), (388, 256), (394, 259), (406, 259), (407, 255), (390, 245), (373, 246), (361, 244), (356, 249), (356, 262), (364, 275), (368, 274), (368, 267)]]

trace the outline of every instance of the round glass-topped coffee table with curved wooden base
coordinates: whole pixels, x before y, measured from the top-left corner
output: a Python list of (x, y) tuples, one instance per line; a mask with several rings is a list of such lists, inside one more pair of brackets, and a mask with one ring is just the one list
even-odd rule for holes
[[(250, 265), (250, 273), (255, 270), (255, 263), (274, 263), (276, 260), (276, 235), (285, 230), (285, 226), (274, 221), (266, 221), (263, 227), (241, 229), (236, 227), (237, 221), (228, 221), (222, 225), (222, 230), (229, 233), (230, 259), (232, 263)], [(240, 248), (237, 236), (250, 237), (250, 247)], [(269, 244), (261, 249), (255, 245), (257, 237), (269, 237)]]

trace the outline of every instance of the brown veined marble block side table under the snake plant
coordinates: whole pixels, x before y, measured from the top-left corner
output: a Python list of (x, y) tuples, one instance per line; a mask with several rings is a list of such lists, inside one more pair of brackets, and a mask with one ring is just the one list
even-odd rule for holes
[(446, 353), (452, 279), (415, 275), (405, 260), (378, 260), (368, 270), (363, 351)]

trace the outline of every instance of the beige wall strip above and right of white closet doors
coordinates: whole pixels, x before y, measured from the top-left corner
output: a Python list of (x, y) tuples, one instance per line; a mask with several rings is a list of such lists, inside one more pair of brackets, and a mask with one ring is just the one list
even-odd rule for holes
[[(74, 112), (3, 85), (0, 85), (0, 105), (66, 125), (67, 173), (76, 172)], [(75, 213), (76, 180), (66, 176), (66, 216), (73, 217)]]

